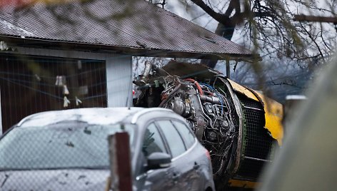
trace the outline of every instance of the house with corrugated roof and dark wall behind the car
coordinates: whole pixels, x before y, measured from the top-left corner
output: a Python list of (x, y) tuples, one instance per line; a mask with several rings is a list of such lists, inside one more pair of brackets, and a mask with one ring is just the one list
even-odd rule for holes
[(146, 1), (20, 2), (0, 7), (3, 132), (44, 110), (131, 105), (132, 56), (252, 58)]

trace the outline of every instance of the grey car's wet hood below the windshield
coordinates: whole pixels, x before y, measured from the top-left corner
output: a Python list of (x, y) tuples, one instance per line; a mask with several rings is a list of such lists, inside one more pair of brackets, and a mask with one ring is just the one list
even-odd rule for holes
[(0, 190), (105, 190), (109, 170), (16, 170), (0, 172)]

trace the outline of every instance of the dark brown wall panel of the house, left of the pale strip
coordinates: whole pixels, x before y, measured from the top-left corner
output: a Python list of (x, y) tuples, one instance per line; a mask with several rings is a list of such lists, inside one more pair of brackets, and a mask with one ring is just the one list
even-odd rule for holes
[(0, 55), (3, 130), (32, 113), (106, 107), (105, 61)]

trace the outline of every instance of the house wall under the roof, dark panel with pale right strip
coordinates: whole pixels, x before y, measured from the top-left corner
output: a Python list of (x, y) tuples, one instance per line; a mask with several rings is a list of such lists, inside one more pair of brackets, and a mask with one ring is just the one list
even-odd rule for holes
[[(3, 130), (26, 115), (44, 110), (116, 107), (126, 106), (126, 102), (131, 105), (131, 56), (41, 48), (17, 47), (17, 50), (1, 52), (0, 124)], [(64, 95), (62, 87), (55, 86), (56, 76), (66, 76), (69, 95)], [(81, 91), (87, 91), (86, 95), (79, 95)], [(64, 96), (71, 102), (66, 108)], [(81, 104), (76, 105), (75, 96)]]

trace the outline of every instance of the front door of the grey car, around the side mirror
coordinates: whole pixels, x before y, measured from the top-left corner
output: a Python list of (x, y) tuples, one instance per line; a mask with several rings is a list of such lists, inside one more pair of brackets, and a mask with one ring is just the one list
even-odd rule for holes
[(169, 168), (160, 168), (156, 170), (146, 169), (146, 157), (151, 155), (151, 153), (168, 153), (164, 140), (161, 133), (154, 123), (146, 125), (146, 130), (144, 132), (144, 139), (141, 148), (141, 156), (139, 160), (143, 160), (144, 169), (139, 172), (136, 177), (138, 185), (142, 185), (141, 190), (170, 190), (176, 191), (173, 187), (173, 180), (169, 174)]

